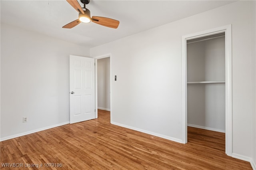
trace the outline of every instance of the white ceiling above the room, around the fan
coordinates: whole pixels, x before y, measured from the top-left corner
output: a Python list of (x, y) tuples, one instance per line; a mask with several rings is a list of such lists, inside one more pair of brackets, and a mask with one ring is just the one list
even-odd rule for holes
[[(82, 6), (80, 0), (78, 2)], [(0, 5), (1, 23), (94, 47), (232, 2), (235, 1), (91, 0), (86, 5), (91, 11), (91, 16), (119, 20), (117, 29), (93, 22), (81, 23), (71, 29), (62, 28), (78, 19), (78, 12), (66, 0), (0, 0)]]

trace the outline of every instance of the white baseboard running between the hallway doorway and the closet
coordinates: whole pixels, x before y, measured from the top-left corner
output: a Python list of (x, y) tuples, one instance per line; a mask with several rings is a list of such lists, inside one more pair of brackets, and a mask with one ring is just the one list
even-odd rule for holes
[(136, 130), (136, 131), (138, 131), (138, 132), (143, 132), (143, 133), (146, 133), (146, 134), (151, 134), (151, 135), (153, 135), (153, 136), (157, 136), (157, 137), (160, 137), (160, 138), (172, 140), (172, 141), (174, 141), (174, 142), (183, 143), (181, 139), (172, 138), (172, 137), (170, 137), (170, 136), (165, 136), (165, 135), (158, 134), (158, 133), (155, 133), (155, 132), (150, 132), (150, 131), (148, 131), (148, 130), (143, 130), (143, 129), (140, 129), (140, 128), (135, 128), (135, 127), (127, 126), (127, 125), (123, 125), (123, 124), (116, 123), (116, 122), (111, 122), (111, 124), (117, 125), (117, 126), (120, 126), (120, 127), (124, 127), (124, 128), (129, 128), (129, 129), (132, 129), (132, 130)]

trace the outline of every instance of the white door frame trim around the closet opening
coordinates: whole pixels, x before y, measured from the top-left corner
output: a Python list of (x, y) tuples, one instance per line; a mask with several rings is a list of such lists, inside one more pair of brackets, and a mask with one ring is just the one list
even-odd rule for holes
[(232, 25), (182, 36), (182, 143), (188, 142), (187, 132), (187, 40), (225, 32), (225, 144), (226, 154), (232, 156)]

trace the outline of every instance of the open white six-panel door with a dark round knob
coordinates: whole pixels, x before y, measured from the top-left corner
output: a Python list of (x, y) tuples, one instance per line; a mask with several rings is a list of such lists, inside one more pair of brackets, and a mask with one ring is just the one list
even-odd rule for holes
[(95, 119), (95, 61), (70, 55), (70, 124)]

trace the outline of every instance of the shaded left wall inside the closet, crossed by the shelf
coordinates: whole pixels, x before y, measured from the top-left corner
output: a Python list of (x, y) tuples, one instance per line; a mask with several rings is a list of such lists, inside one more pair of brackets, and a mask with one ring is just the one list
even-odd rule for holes
[[(205, 43), (204, 41), (187, 44), (187, 81), (205, 81)], [(205, 125), (205, 85), (187, 85), (188, 126)], [(196, 99), (194, 99), (196, 97)]]

